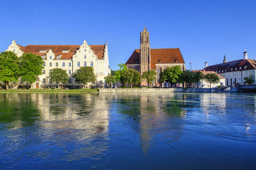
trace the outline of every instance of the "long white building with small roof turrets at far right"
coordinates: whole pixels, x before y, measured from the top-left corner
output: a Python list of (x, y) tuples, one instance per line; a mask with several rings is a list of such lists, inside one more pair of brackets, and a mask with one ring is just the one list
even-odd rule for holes
[(255, 84), (256, 75), (256, 60), (248, 59), (247, 52), (243, 53), (244, 57), (241, 60), (227, 62), (224, 56), (223, 63), (208, 66), (205, 62), (205, 68), (202, 71), (214, 71), (224, 77), (226, 86), (243, 85), (244, 78), (253, 75)]

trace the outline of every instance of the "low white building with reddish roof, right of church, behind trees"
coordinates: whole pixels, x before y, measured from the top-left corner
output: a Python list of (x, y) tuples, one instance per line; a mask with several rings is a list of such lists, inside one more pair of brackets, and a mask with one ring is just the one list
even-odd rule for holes
[[(200, 70), (193, 70), (193, 72), (198, 72)], [(209, 74), (209, 73), (215, 73), (214, 71), (201, 71), (203, 75)], [(211, 88), (218, 88), (218, 86), (225, 86), (225, 78), (223, 78), (220, 74), (217, 74), (220, 78), (220, 82), (218, 83), (212, 83)], [(210, 83), (207, 83), (205, 80), (200, 80), (197, 83), (192, 83), (192, 88), (210, 88)]]

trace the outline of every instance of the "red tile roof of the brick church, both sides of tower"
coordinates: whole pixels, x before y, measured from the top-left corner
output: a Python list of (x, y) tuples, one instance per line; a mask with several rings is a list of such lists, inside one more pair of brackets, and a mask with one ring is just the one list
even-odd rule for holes
[[(156, 64), (185, 63), (179, 48), (150, 49), (151, 69), (156, 69)], [(139, 64), (140, 49), (135, 49), (125, 64)]]

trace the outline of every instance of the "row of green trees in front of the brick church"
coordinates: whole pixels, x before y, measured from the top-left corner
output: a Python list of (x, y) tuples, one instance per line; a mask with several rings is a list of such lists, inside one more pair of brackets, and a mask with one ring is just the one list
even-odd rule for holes
[[(111, 83), (120, 82), (122, 86), (126, 84), (130, 84), (135, 86), (141, 83), (141, 80), (145, 80), (148, 82), (148, 86), (151, 88), (152, 83), (156, 80), (156, 71), (149, 70), (143, 72), (142, 75), (140, 72), (127, 69), (125, 64), (119, 64), (119, 70), (111, 72), (107, 77), (105, 77), (106, 83), (110, 86)], [(201, 80), (205, 80), (206, 82), (210, 83), (210, 88), (212, 83), (218, 83), (220, 81), (218, 74), (209, 73), (203, 74), (202, 72), (191, 72), (188, 70), (181, 71), (179, 66), (173, 67), (166, 67), (160, 74), (159, 74), (159, 82), (167, 82), (170, 83), (171, 86), (176, 83), (182, 83), (183, 87), (191, 87), (192, 83), (197, 83)], [(198, 88), (198, 87), (197, 87)]]

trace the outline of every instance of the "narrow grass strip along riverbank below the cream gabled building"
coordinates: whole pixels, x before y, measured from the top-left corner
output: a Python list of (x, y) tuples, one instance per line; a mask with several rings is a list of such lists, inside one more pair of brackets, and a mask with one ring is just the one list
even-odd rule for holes
[(9, 89), (0, 92), (99, 92), (99, 89)]

